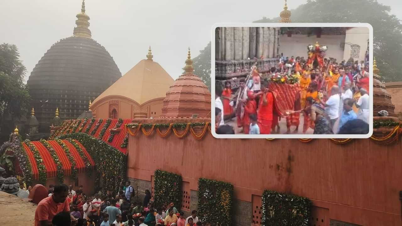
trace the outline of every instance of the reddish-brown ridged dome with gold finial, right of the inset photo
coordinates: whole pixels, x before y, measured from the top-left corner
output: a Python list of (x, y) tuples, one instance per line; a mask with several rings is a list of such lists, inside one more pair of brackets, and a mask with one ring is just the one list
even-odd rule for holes
[(377, 74), (379, 69), (377, 68), (375, 58), (373, 61), (373, 72), (373, 115), (377, 116), (379, 111), (386, 110), (389, 116), (395, 116), (395, 105), (392, 104), (392, 97), (387, 92), (385, 84), (379, 80), (381, 77)]

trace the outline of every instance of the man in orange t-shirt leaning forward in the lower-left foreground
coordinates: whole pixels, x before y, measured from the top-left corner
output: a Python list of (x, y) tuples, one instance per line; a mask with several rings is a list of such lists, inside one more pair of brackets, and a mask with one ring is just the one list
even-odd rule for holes
[[(53, 195), (42, 199), (35, 210), (35, 226), (51, 226), (51, 220), (56, 214), (70, 211), (68, 192), (65, 184), (54, 186)], [(73, 216), (70, 217), (74, 219)]]

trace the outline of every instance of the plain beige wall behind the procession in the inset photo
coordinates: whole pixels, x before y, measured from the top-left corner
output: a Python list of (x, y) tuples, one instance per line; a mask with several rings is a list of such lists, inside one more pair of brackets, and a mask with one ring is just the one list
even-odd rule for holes
[(345, 42), (345, 35), (321, 35), (321, 38), (317, 38), (316, 35), (310, 37), (307, 35), (292, 35), (291, 37), (280, 35), (280, 41), (281, 44), (279, 45), (278, 54), (283, 53), (285, 57), (304, 56), (304, 58), (307, 59), (307, 46), (314, 45), (318, 41), (320, 45), (328, 46), (326, 58), (336, 58), (337, 62), (343, 60), (344, 51), (343, 48), (340, 47), (340, 44)]

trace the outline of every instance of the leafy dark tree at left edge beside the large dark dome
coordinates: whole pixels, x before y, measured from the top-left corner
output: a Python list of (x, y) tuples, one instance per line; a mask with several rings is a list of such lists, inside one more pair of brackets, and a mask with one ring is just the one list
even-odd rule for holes
[(28, 112), (31, 101), (24, 84), (27, 70), (19, 57), (16, 45), (0, 45), (0, 114), (10, 114), (14, 120)]

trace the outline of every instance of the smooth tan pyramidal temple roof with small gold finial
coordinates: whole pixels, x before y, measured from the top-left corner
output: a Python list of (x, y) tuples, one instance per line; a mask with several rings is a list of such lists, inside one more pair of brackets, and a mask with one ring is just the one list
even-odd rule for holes
[(119, 95), (136, 101), (140, 105), (155, 98), (165, 97), (166, 91), (173, 84), (174, 79), (160, 64), (152, 60), (151, 49), (148, 50), (146, 60), (141, 60), (105, 92), (99, 95), (92, 103), (100, 99)]

